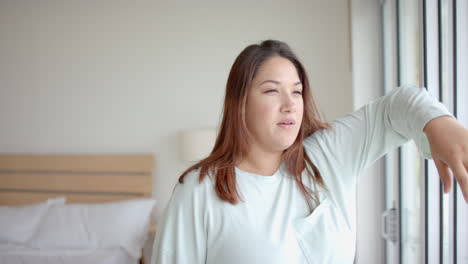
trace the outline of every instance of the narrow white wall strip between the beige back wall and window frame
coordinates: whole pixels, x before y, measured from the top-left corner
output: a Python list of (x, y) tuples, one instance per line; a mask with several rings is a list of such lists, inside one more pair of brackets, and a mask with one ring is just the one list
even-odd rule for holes
[[(383, 95), (383, 54), (380, 1), (353, 0), (352, 54), (354, 109)], [(381, 218), (384, 210), (383, 162), (361, 175), (357, 186), (356, 263), (384, 263)]]

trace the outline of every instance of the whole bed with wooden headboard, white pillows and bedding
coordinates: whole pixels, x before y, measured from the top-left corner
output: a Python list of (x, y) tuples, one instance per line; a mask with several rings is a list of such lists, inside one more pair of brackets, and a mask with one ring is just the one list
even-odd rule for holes
[(0, 155), (0, 263), (143, 263), (153, 155)]

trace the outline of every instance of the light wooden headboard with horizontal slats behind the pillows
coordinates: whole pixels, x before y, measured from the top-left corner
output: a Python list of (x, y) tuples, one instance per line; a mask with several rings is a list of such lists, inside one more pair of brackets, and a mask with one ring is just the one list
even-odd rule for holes
[(97, 203), (152, 196), (154, 157), (137, 155), (0, 155), (0, 205), (66, 196)]

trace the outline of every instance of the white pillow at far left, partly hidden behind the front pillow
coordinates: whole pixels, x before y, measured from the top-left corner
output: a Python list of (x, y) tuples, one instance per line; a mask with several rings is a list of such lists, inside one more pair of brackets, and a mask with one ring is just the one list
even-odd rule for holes
[(0, 206), (0, 243), (24, 244), (34, 235), (47, 209), (65, 197), (24, 206)]

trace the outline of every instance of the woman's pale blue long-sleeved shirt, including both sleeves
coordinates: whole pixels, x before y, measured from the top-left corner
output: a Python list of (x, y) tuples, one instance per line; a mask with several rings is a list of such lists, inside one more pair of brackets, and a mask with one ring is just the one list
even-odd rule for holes
[(423, 128), (442, 115), (451, 114), (425, 89), (396, 88), (306, 138), (327, 188), (303, 173), (321, 200), (312, 212), (283, 164), (272, 176), (235, 168), (244, 201), (236, 205), (218, 198), (211, 176), (199, 183), (192, 171), (158, 225), (152, 263), (353, 263), (358, 176), (410, 139), (431, 158)]

